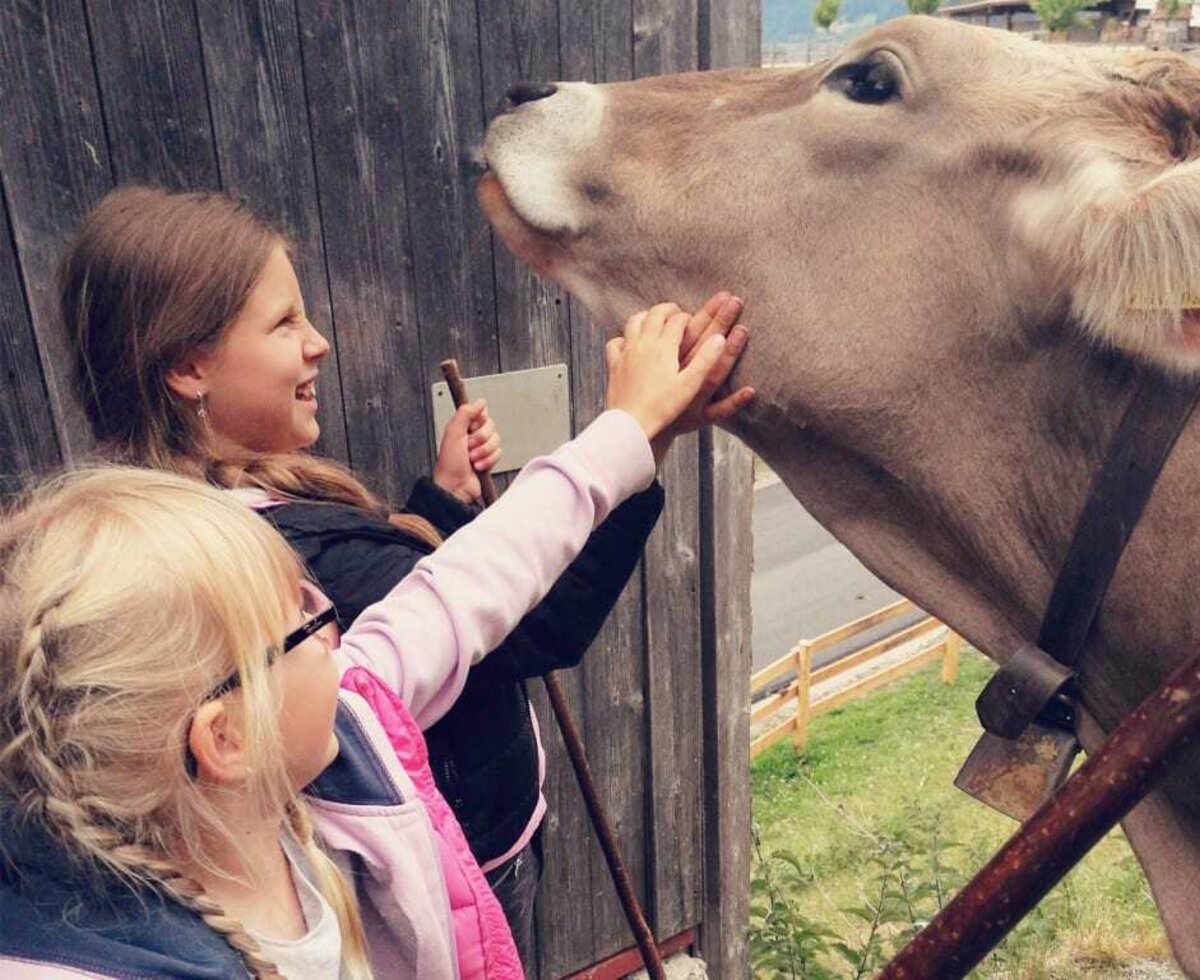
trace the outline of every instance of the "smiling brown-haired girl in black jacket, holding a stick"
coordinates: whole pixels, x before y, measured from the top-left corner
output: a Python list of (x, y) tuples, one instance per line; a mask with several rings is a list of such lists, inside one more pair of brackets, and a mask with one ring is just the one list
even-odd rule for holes
[[(110, 458), (206, 479), (259, 509), (288, 539), (341, 626), (468, 524), (475, 470), (499, 447), (485, 408), (455, 416), (433, 477), (389, 515), (348, 470), (305, 450), (319, 433), (318, 375), (329, 343), (277, 233), (221, 194), (133, 187), (102, 200), (61, 266), (61, 307), (89, 419)], [(673, 309), (672, 309), (673, 312)], [(685, 330), (730, 343), (685, 416), (655, 438), (732, 414), (748, 390), (710, 404), (745, 331), (718, 294)], [(541, 868), (544, 756), (524, 681), (572, 667), (629, 581), (662, 510), (655, 482), (619, 507), (539, 606), (478, 669), (416, 714), (439, 789), (462, 823), (522, 957), (532, 958)]]

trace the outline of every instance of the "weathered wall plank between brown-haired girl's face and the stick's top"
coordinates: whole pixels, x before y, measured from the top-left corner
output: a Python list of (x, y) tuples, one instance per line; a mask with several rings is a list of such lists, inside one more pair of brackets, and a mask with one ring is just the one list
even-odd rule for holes
[(401, 503), (433, 445), (401, 136), (404, 67), (386, 0), (299, 4), (349, 453)]

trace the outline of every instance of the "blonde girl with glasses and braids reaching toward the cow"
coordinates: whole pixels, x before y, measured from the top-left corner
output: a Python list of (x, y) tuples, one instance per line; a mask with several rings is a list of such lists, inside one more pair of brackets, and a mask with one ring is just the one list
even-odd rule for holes
[(0, 974), (520, 976), (413, 717), (653, 480), (720, 356), (679, 367), (686, 320), (630, 320), (610, 410), (340, 636), (284, 540), (199, 481), (82, 471), (7, 515)]

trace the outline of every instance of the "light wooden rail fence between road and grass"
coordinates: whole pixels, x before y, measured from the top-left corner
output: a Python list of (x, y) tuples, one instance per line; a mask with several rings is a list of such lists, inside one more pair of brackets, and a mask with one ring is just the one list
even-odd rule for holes
[[(840, 708), (854, 698), (860, 698), (876, 687), (889, 684), (896, 678), (912, 673), (918, 667), (923, 667), (934, 660), (942, 661), (942, 680), (946, 684), (954, 684), (959, 674), (959, 654), (962, 649), (962, 639), (949, 631), (932, 617), (925, 617), (917, 623), (910, 624), (894, 633), (886, 636), (874, 643), (863, 647), (854, 653), (827, 663), (823, 667), (812, 668), (812, 657), (824, 650), (829, 650), (840, 643), (853, 639), (868, 630), (874, 630), (884, 623), (910, 615), (917, 612), (917, 607), (907, 599), (884, 606), (874, 613), (856, 619), (836, 630), (822, 633), (816, 639), (802, 639), (791, 651), (776, 660), (769, 667), (764, 667), (750, 678), (750, 699), (754, 702), (755, 693), (763, 687), (787, 677), (793, 671), (796, 678), (781, 691), (768, 695), (754, 704), (750, 713), (750, 725), (757, 725), (774, 717), (788, 704), (796, 705), (794, 711), (784, 721), (760, 734), (750, 742), (750, 758), (766, 751), (780, 739), (792, 736), (792, 744), (797, 748), (803, 748), (809, 740), (809, 722), (817, 715)], [(812, 689), (833, 680), (851, 671), (870, 665), (886, 654), (890, 654), (907, 644), (913, 644), (922, 637), (937, 635), (937, 642), (925, 644), (913, 649), (901, 660), (888, 663), (878, 671), (865, 673), (853, 681), (839, 687), (836, 691), (823, 695), (814, 699)]]

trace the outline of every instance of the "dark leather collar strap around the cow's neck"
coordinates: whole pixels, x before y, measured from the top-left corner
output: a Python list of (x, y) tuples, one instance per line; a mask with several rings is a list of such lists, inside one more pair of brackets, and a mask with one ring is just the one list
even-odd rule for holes
[[(1073, 711), (1062, 690), (1074, 675), (1121, 555), (1198, 397), (1195, 380), (1140, 369), (1133, 398), (1075, 524), (1038, 644), (1018, 650), (976, 702), (989, 732), (1015, 739), (1034, 719), (1072, 726)], [(1067, 668), (1057, 668), (1057, 687), (1051, 680), (1055, 661)]]

